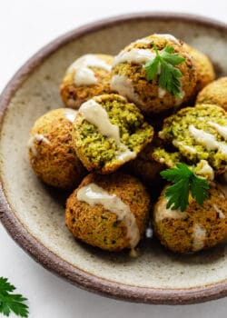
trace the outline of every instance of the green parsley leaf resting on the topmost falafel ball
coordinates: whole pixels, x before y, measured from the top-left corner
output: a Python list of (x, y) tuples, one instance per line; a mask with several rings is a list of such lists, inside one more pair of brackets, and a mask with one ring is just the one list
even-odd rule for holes
[(163, 89), (167, 89), (169, 93), (183, 98), (181, 93), (182, 84), (179, 80), (179, 78), (183, 77), (183, 74), (174, 66), (183, 63), (185, 58), (178, 53), (174, 53), (173, 46), (165, 46), (161, 53), (159, 53), (156, 46), (153, 46), (153, 49), (156, 53), (155, 58), (144, 65), (147, 80), (149, 82), (152, 81), (160, 73), (158, 79), (160, 86)]

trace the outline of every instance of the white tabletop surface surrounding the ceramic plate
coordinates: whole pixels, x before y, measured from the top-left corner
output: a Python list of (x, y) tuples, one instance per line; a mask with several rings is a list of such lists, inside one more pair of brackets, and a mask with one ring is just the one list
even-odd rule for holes
[[(110, 15), (147, 10), (206, 15), (227, 23), (226, 9), (224, 0), (2, 0), (0, 91), (35, 51), (76, 26)], [(1, 224), (0, 276), (8, 277), (18, 293), (29, 298), (31, 318), (226, 317), (227, 298), (196, 305), (162, 306), (123, 303), (84, 292), (35, 263)]]

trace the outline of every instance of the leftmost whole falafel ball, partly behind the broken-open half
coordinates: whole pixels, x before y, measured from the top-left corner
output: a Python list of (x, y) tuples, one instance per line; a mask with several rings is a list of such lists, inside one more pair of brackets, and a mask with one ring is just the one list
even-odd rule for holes
[(54, 109), (38, 118), (30, 132), (30, 164), (45, 184), (72, 189), (84, 177), (72, 142), (76, 113), (69, 108)]

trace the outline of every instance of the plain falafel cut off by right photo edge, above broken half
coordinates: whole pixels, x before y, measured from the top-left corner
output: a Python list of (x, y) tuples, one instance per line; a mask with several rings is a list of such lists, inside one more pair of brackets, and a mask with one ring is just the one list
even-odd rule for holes
[(205, 86), (198, 94), (196, 104), (217, 104), (227, 111), (227, 77), (221, 77)]

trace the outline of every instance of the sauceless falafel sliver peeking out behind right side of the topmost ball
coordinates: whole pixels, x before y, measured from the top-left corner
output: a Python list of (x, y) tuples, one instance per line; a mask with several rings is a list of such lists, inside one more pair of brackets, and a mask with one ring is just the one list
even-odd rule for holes
[[(183, 48), (192, 56), (193, 64), (196, 67), (197, 82), (194, 87), (194, 94), (198, 94), (203, 87), (210, 84), (215, 79), (215, 73), (212, 62), (207, 55), (201, 51), (196, 50), (190, 45), (183, 44)], [(215, 103), (209, 103), (215, 104)]]

